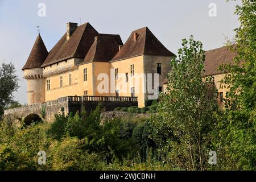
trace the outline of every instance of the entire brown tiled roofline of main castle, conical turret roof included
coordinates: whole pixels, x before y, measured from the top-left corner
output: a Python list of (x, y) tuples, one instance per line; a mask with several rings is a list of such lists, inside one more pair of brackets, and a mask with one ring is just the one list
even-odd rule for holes
[[(138, 35), (136, 41), (135, 33)], [(120, 51), (119, 45), (122, 46)], [(147, 27), (133, 31), (123, 45), (119, 35), (99, 34), (89, 23), (85, 23), (76, 28), (69, 40), (65, 33), (49, 53), (39, 35), (23, 69), (43, 68), (72, 57), (82, 58), (82, 63), (87, 63), (139, 55), (174, 56)]]

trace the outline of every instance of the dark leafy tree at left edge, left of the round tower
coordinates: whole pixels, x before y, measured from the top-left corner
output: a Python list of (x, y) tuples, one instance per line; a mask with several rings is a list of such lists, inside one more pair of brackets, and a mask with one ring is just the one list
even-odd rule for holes
[(0, 67), (0, 119), (3, 110), (14, 102), (13, 92), (19, 88), (18, 76), (15, 72), (13, 63), (2, 63)]

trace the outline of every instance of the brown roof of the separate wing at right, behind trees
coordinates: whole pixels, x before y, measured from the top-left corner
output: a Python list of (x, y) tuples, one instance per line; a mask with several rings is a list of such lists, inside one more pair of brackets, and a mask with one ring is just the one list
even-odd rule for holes
[(205, 52), (204, 76), (220, 74), (218, 66), (222, 63), (232, 64), (234, 57), (237, 56), (237, 52), (231, 51), (229, 47), (220, 47)]

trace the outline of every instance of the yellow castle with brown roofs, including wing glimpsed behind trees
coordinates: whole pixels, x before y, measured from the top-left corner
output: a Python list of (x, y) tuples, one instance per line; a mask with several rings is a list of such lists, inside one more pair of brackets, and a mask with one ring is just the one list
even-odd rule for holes
[[(228, 90), (220, 88), (224, 74), (217, 68), (232, 63), (235, 53), (222, 47), (205, 55), (205, 76), (214, 75), (221, 104)], [(137, 97), (143, 107), (155, 94), (148, 86), (164, 91), (174, 56), (147, 27), (131, 32), (123, 44), (119, 35), (100, 34), (89, 23), (67, 23), (67, 32), (49, 52), (40, 34), (36, 38), (22, 68), (28, 105), (65, 96), (112, 96)]]

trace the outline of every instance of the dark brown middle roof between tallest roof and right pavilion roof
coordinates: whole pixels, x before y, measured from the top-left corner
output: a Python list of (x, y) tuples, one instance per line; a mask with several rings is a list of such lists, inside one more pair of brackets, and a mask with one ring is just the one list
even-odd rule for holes
[(118, 52), (119, 45), (122, 45), (119, 35), (101, 34), (96, 36), (81, 64), (91, 61), (110, 61)]

